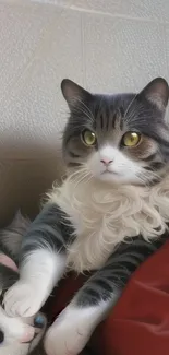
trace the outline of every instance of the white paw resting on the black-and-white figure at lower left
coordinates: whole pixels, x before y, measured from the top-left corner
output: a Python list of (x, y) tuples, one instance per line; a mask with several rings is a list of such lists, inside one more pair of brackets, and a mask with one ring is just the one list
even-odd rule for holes
[(10, 317), (32, 317), (43, 304), (40, 293), (29, 283), (19, 281), (4, 295), (4, 309)]

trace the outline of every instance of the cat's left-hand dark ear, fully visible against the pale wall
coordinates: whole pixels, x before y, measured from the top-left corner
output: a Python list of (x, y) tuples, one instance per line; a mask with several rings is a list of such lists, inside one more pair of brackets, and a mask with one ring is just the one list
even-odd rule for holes
[(61, 91), (70, 109), (73, 109), (75, 106), (81, 105), (84, 100), (86, 102), (92, 97), (90, 93), (69, 79), (63, 79), (61, 82)]

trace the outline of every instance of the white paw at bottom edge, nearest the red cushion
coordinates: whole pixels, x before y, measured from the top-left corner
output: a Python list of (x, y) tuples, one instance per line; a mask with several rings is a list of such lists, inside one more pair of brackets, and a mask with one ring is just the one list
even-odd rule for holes
[(83, 324), (72, 320), (58, 319), (45, 336), (47, 355), (77, 355), (86, 345), (90, 332)]

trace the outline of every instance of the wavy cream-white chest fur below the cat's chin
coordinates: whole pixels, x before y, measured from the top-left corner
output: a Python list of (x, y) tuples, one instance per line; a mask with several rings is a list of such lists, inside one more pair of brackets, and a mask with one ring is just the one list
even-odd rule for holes
[(77, 238), (69, 249), (68, 267), (77, 272), (101, 267), (126, 237), (161, 235), (169, 222), (169, 178), (152, 188), (95, 179), (77, 184), (68, 178), (49, 200), (70, 216), (75, 228)]

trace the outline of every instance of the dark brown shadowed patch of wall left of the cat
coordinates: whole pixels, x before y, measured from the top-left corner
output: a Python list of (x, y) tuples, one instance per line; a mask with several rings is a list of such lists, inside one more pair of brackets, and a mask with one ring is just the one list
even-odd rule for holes
[(46, 149), (24, 142), (0, 146), (0, 227), (12, 220), (17, 209), (34, 218), (40, 199), (63, 174), (60, 146)]

